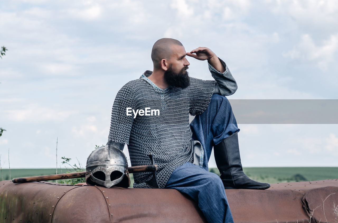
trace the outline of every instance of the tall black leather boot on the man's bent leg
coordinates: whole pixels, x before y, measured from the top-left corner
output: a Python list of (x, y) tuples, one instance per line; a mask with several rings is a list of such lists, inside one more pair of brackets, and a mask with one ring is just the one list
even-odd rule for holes
[(237, 132), (214, 146), (217, 168), (225, 189), (267, 189), (268, 183), (251, 180), (243, 172)]

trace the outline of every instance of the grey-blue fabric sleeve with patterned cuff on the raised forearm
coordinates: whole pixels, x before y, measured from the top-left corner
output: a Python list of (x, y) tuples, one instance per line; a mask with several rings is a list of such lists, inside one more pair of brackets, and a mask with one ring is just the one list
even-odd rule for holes
[(229, 68), (224, 63), (224, 61), (222, 61), (221, 59), (219, 60), (221, 61), (222, 65), (225, 67), (225, 71), (223, 73), (217, 71), (213, 66), (211, 66), (208, 63), (211, 75), (216, 81), (213, 94), (229, 96), (236, 92), (237, 83), (235, 81), (235, 78), (232, 76)]

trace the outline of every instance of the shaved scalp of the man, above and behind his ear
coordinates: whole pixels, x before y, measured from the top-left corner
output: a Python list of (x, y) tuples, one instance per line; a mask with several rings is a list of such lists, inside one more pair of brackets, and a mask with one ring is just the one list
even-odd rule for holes
[(154, 68), (160, 68), (161, 60), (168, 60), (171, 57), (172, 45), (183, 46), (180, 41), (171, 38), (162, 38), (154, 43), (151, 50), (151, 60), (154, 64)]

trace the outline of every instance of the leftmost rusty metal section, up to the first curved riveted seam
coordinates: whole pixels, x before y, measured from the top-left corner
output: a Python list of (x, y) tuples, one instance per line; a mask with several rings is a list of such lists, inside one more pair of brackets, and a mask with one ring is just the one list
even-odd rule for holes
[(51, 222), (58, 201), (75, 186), (0, 182), (0, 222)]

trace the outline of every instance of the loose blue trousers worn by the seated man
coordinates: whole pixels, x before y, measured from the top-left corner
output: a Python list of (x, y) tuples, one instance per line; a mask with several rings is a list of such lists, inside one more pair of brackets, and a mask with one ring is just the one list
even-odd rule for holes
[(214, 94), (208, 108), (190, 123), (193, 140), (204, 150), (203, 167), (185, 163), (171, 174), (165, 188), (176, 189), (198, 203), (208, 222), (234, 222), (221, 179), (208, 171), (213, 145), (239, 131), (226, 97)]

